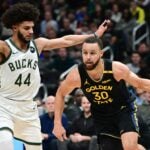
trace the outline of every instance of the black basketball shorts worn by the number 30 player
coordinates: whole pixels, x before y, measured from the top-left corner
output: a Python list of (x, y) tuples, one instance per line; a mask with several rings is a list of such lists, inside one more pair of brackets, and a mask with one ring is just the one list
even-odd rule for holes
[(139, 132), (136, 111), (124, 108), (112, 116), (100, 117), (98, 123), (95, 120), (97, 133), (120, 138), (125, 132)]

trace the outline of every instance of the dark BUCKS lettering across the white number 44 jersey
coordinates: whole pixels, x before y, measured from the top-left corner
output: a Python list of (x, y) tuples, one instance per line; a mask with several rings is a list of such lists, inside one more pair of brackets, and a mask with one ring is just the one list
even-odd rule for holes
[(15, 71), (21, 68), (31, 68), (35, 70), (37, 65), (38, 62), (34, 61), (33, 59), (22, 59), (22, 60), (16, 60), (14, 62), (8, 63), (8, 66), (11, 71)]

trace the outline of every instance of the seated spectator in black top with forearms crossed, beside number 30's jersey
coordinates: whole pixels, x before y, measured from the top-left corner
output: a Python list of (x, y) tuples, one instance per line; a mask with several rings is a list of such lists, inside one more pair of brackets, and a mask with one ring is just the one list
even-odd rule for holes
[[(83, 113), (75, 119), (69, 129), (68, 150), (88, 150), (92, 136), (95, 135), (90, 102), (85, 96), (81, 99)], [(93, 145), (96, 146), (96, 145)]]

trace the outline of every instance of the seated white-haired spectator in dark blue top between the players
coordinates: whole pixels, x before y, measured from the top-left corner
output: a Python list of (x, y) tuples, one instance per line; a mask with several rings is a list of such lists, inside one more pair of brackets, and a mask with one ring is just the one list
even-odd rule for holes
[[(65, 145), (65, 143), (58, 141), (52, 134), (54, 127), (54, 105), (55, 97), (48, 96), (45, 99), (45, 109), (47, 113), (40, 116), (43, 150), (58, 150), (59, 146), (61, 147)], [(62, 115), (62, 124), (65, 129), (68, 128), (68, 120), (65, 114)]]

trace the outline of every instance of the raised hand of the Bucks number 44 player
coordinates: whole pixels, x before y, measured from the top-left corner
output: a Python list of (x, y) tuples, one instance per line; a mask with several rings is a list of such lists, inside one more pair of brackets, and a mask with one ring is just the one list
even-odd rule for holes
[(109, 19), (105, 20), (97, 29), (97, 31), (95, 32), (95, 34), (98, 37), (101, 37), (103, 35), (103, 33), (108, 29), (108, 26), (111, 25), (111, 21)]

